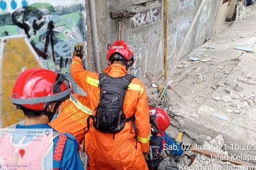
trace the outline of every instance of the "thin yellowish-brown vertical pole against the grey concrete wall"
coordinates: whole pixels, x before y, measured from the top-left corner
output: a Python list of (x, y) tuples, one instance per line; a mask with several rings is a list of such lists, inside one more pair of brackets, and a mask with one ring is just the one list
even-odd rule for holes
[(163, 68), (164, 80), (167, 78), (167, 8), (168, 0), (163, 2), (163, 36), (164, 36), (164, 54), (163, 54)]

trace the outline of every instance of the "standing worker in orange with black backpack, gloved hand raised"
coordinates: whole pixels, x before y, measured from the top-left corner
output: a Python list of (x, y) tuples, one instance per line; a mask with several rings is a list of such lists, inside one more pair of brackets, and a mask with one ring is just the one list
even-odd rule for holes
[[(92, 170), (148, 170), (143, 153), (149, 151), (149, 107), (144, 85), (127, 73), (134, 62), (131, 48), (124, 41), (116, 41), (107, 54), (109, 67), (100, 75), (83, 69), (82, 43), (76, 44), (75, 53), (76, 56), (71, 65), (71, 76), (88, 94), (93, 110), (93, 126), (90, 126), (89, 130), (91, 134), (88, 153), (90, 168)], [(112, 91), (106, 81), (112, 85)], [(113, 82), (116, 85), (113, 85)], [(126, 88), (124, 94), (119, 94), (123, 92), (124, 87)], [(112, 95), (114, 98), (106, 98), (104, 95)], [(122, 100), (115, 97), (122, 95), (124, 96)], [(112, 112), (110, 110), (116, 108), (112, 105), (115, 102), (122, 105), (117, 112), (119, 115), (115, 115), (116, 110)], [(106, 107), (106, 103), (109, 103), (109, 108)], [(113, 122), (112, 119), (115, 121)]]

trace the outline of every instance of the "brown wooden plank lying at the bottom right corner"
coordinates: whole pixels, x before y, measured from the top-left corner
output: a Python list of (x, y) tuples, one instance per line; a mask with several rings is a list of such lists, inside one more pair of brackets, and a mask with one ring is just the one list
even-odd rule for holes
[[(233, 163), (234, 165), (251, 166), (255, 170), (256, 165), (248, 163), (246, 161), (234, 160), (231, 157), (229, 157), (229, 156), (227, 157), (226, 155), (223, 155), (221, 153), (216, 153), (216, 152), (212, 152), (212, 151), (209, 151), (209, 150), (198, 150), (198, 149), (196, 149), (195, 146), (191, 146), (190, 151), (194, 152), (194, 153), (198, 153), (200, 155), (204, 154), (206, 157), (216, 157), (220, 161), (230, 162), (230, 163)], [(222, 158), (224, 160), (222, 160)]]

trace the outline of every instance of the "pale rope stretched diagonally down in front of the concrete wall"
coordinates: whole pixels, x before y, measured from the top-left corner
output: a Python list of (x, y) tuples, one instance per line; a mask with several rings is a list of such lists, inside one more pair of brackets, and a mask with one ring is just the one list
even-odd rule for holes
[(156, 106), (158, 106), (158, 104), (159, 104), (159, 102), (160, 102), (160, 99), (163, 98), (164, 91), (165, 91), (166, 88), (168, 87), (169, 79), (171, 78), (172, 73), (173, 73), (173, 72), (175, 71), (175, 69), (176, 69), (176, 66), (177, 66), (177, 64), (178, 64), (178, 62), (179, 62), (179, 60), (180, 60), (180, 58), (181, 58), (181, 54), (182, 54), (182, 52), (184, 51), (185, 45), (186, 45), (188, 39), (190, 38), (190, 35), (191, 35), (191, 33), (192, 33), (193, 29), (194, 29), (194, 25), (195, 25), (195, 23), (196, 23), (196, 21), (197, 21), (197, 19), (198, 19), (198, 17), (199, 17), (199, 14), (200, 14), (201, 11), (202, 11), (202, 8), (203, 8), (204, 3), (205, 3), (205, 0), (202, 0), (201, 4), (200, 4), (200, 6), (199, 6), (199, 9), (198, 9), (198, 11), (197, 11), (197, 13), (196, 13), (196, 15), (195, 15), (195, 17), (194, 17), (194, 21), (192, 22), (192, 24), (191, 24), (191, 26), (190, 26), (190, 29), (189, 29), (188, 33), (186, 34), (186, 37), (185, 37), (185, 39), (184, 39), (184, 41), (183, 41), (183, 43), (182, 43), (182, 46), (181, 46), (181, 48), (180, 48), (180, 50), (179, 50), (179, 52), (178, 52), (178, 55), (177, 55), (177, 56), (175, 57), (175, 59), (174, 59), (174, 63), (173, 63), (172, 66), (171, 66), (170, 72), (168, 72), (168, 76), (166, 77), (166, 79), (165, 79), (164, 82), (163, 82), (163, 87), (162, 87), (162, 89), (160, 90), (159, 95), (158, 95), (158, 98), (157, 98), (157, 100), (156, 100)]

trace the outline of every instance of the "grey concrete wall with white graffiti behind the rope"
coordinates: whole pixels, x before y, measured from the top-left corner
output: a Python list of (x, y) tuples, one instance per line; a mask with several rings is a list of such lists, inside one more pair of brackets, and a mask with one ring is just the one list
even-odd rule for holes
[[(181, 47), (186, 32), (202, 0), (168, 0), (168, 62), (172, 62)], [(105, 2), (105, 3), (103, 3)], [(102, 4), (103, 3), (103, 4)], [(163, 0), (97, 1), (97, 28), (100, 41), (102, 70), (107, 66), (107, 43), (124, 39), (135, 53), (135, 64), (130, 73), (146, 82), (143, 75), (163, 71)], [(206, 40), (212, 33), (219, 0), (207, 0), (183, 56)], [(128, 10), (137, 13), (124, 21), (111, 19), (110, 12)]]

